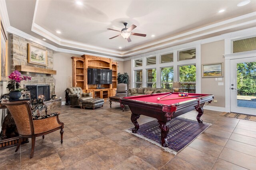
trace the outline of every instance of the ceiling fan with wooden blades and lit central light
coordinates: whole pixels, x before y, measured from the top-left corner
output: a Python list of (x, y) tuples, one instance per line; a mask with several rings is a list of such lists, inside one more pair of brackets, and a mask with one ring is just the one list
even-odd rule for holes
[(127, 39), (128, 42), (131, 42), (132, 40), (131, 40), (131, 38), (130, 38), (130, 35), (137, 35), (137, 36), (141, 36), (141, 37), (146, 37), (146, 34), (131, 33), (131, 31), (132, 31), (134, 28), (136, 28), (137, 26), (136, 26), (136, 25), (132, 25), (132, 26), (130, 26), (129, 28), (126, 28), (127, 24), (128, 24), (128, 23), (126, 23), (126, 22), (124, 23), (125, 28), (123, 28), (121, 31), (118, 31), (118, 30), (116, 30), (116, 29), (108, 28), (109, 30), (118, 31), (118, 32), (121, 33), (121, 34), (119, 34), (119, 35), (116, 35), (116, 36), (114, 36), (114, 37), (111, 37), (110, 39), (119, 37), (119, 36), (121, 35), (122, 37), (124, 37), (124, 39)]

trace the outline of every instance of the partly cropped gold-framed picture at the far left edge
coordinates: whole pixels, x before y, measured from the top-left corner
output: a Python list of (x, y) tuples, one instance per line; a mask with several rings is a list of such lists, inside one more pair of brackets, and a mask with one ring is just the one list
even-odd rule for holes
[(4, 31), (4, 27), (1, 22), (1, 43), (0, 43), (0, 49), (1, 49), (1, 64), (0, 64), (0, 70), (1, 70), (1, 81), (7, 81), (7, 50), (8, 50), (8, 43), (7, 43), (7, 37)]

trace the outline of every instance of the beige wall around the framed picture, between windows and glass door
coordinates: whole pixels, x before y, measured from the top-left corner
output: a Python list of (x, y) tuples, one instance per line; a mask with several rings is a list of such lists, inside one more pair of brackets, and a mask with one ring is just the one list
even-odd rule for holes
[[(201, 45), (201, 64), (221, 63), (224, 65), (224, 40)], [(224, 71), (224, 70), (223, 70)], [(202, 76), (201, 76), (202, 77)], [(213, 94), (214, 100), (210, 106), (225, 107), (225, 72), (222, 80), (216, 81), (214, 77), (201, 78), (201, 93)], [(218, 86), (223, 82), (224, 86)]]

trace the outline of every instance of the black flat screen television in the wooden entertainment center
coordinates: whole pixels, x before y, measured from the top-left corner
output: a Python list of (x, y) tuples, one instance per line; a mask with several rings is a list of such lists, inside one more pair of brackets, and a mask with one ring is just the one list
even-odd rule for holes
[(88, 84), (112, 84), (112, 70), (88, 68)]

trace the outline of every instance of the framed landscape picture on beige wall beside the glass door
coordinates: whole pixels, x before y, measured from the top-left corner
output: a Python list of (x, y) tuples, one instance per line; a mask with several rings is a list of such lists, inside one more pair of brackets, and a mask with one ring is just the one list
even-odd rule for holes
[(202, 77), (223, 77), (223, 63), (202, 64)]

